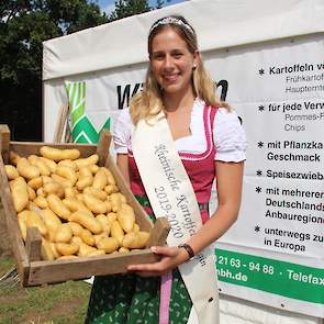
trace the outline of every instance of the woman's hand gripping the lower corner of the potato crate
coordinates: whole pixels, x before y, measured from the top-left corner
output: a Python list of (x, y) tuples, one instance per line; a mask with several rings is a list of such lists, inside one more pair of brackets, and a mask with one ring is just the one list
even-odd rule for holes
[(161, 256), (161, 259), (154, 264), (131, 265), (129, 271), (134, 271), (141, 277), (163, 276), (175, 269), (188, 259), (183, 248), (169, 246), (153, 246), (152, 252)]

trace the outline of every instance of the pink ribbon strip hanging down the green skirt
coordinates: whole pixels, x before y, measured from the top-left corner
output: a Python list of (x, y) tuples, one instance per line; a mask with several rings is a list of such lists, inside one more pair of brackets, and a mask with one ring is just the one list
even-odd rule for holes
[(169, 271), (160, 279), (160, 301), (158, 324), (169, 324), (169, 305), (172, 287), (172, 272)]

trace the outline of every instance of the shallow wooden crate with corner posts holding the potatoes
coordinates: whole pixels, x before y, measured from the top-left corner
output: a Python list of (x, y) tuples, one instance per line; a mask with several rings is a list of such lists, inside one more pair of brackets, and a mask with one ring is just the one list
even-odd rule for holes
[(97, 257), (79, 257), (77, 259), (41, 260), (41, 234), (37, 228), (29, 228), (24, 244), (18, 223), (18, 215), (13, 206), (10, 188), (4, 170), (4, 164), (9, 163), (9, 153), (13, 150), (20, 156), (31, 154), (38, 155), (41, 146), (45, 143), (10, 142), (10, 130), (7, 125), (0, 125), (0, 197), (3, 204), (5, 221), (12, 245), (13, 256), (16, 262), (23, 287), (38, 286), (43, 283), (62, 282), (74, 279), (83, 279), (91, 276), (113, 275), (126, 272), (126, 267), (132, 264), (153, 262), (158, 260), (149, 247), (164, 245), (169, 232), (169, 224), (165, 217), (159, 217), (155, 225), (149, 220), (143, 208), (139, 205), (133, 193), (126, 187), (113, 158), (109, 154), (111, 142), (110, 133), (102, 132), (99, 144), (46, 144), (57, 148), (78, 148), (81, 157), (97, 153), (100, 156), (99, 166), (108, 167), (115, 177), (120, 191), (126, 197), (130, 205), (133, 206), (136, 222), (144, 231), (150, 232), (147, 246), (143, 250), (130, 252), (127, 254), (112, 254)]

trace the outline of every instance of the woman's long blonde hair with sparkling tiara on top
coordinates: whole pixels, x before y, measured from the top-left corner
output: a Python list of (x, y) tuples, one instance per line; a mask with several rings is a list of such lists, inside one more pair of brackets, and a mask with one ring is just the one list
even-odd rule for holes
[[(148, 35), (148, 54), (152, 55), (152, 43), (154, 37), (163, 30), (170, 27), (187, 43), (189, 52), (193, 55), (198, 51), (197, 35), (187, 20), (179, 15), (169, 15), (156, 21), (150, 27)], [(194, 96), (202, 99), (208, 105), (225, 107), (215, 92), (215, 85), (205, 70), (202, 60), (192, 70), (192, 87)], [(148, 120), (164, 110), (161, 89), (152, 71), (150, 65), (146, 72), (145, 88), (131, 99), (131, 116), (136, 125), (142, 119)]]

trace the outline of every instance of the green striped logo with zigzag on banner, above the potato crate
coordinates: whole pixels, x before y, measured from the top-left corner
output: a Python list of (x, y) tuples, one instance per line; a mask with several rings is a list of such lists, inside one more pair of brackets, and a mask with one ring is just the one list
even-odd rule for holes
[(86, 114), (86, 81), (66, 81), (65, 87), (71, 109), (70, 121), (74, 143), (98, 143), (100, 132), (103, 129), (110, 130), (110, 118), (108, 118), (102, 129), (97, 132)]

